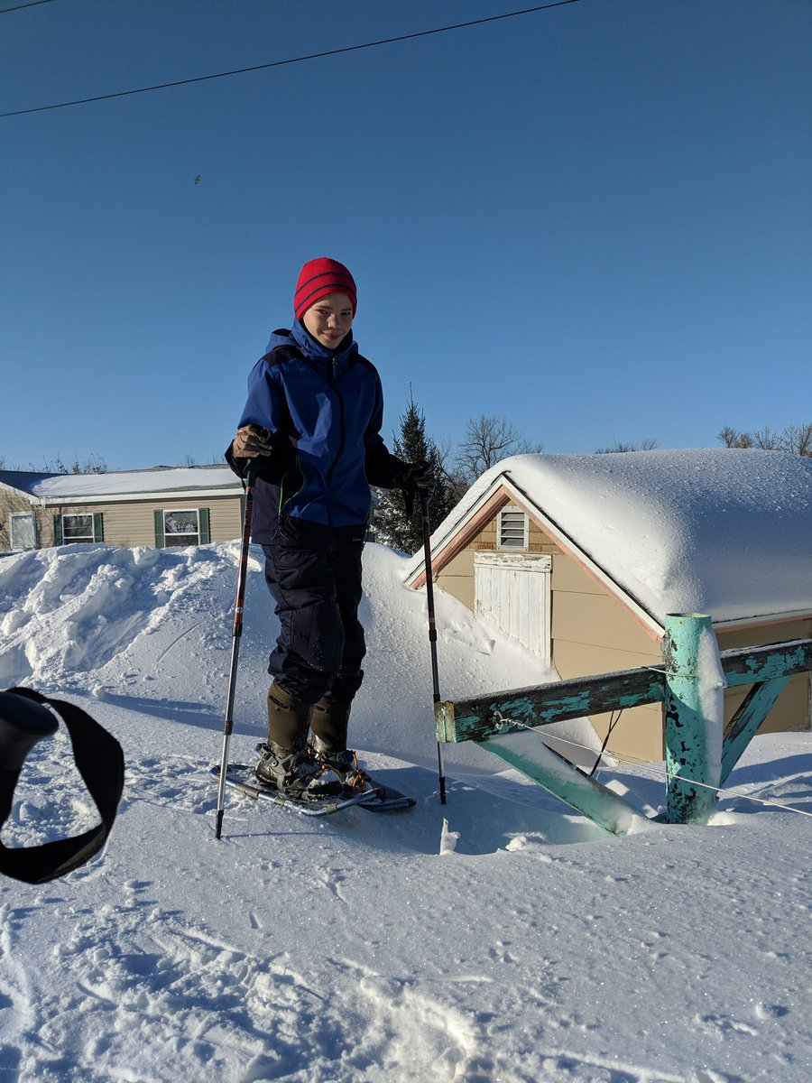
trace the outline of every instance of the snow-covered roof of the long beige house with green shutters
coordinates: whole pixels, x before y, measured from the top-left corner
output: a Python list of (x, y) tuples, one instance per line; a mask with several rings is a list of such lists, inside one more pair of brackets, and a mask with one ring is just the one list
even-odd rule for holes
[(227, 466), (156, 467), (152, 470), (112, 471), (91, 474), (30, 473), (1, 470), (0, 485), (26, 493), (45, 504), (65, 500), (93, 503), (118, 496), (168, 493), (241, 493), (236, 474)]

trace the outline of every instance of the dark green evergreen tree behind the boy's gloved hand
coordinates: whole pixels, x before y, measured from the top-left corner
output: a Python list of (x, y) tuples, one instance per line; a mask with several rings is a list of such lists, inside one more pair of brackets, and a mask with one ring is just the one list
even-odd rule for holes
[[(392, 441), (393, 453), (405, 462), (428, 462), (434, 473), (434, 488), (429, 494), (429, 525), (434, 530), (451, 510), (454, 500), (447, 485), (443, 458), (436, 444), (425, 434), (425, 418), (409, 393), (406, 413), (401, 418), (401, 432)], [(403, 493), (398, 488), (376, 490), (375, 533), (378, 542), (403, 552), (417, 552), (423, 544), (420, 506), (406, 516)]]

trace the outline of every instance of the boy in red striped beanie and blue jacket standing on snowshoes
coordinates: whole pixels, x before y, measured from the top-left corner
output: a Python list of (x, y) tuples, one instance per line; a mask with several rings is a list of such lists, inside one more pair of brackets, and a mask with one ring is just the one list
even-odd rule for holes
[(254, 462), (252, 540), (280, 624), (254, 772), (300, 800), (337, 796), (358, 774), (346, 734), (366, 653), (357, 610), (369, 486), (400, 487), (408, 505), (433, 481), (425, 462), (403, 462), (383, 443), (380, 377), (352, 335), (356, 305), (342, 263), (304, 264), (293, 325), (274, 331), (253, 367), (226, 452), (240, 477)]

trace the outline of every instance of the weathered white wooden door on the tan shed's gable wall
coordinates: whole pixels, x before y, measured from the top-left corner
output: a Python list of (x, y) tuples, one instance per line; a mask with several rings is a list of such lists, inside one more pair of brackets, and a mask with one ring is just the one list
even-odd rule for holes
[(550, 662), (548, 553), (474, 553), (474, 613)]

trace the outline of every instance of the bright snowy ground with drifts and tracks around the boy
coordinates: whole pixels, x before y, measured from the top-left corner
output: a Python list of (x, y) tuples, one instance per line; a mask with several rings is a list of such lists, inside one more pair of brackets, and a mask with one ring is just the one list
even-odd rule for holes
[[(371, 546), (354, 740), (417, 807), (313, 821), (230, 796), (217, 841), (236, 559), (0, 559), (0, 687), (73, 699), (128, 765), (103, 856), (0, 882), (2, 1083), (812, 1078), (808, 732), (757, 739), (729, 780), (788, 808), (725, 796), (709, 827), (616, 839), (467, 746), (441, 806), (424, 597)], [(442, 592), (437, 615), (444, 696), (543, 679)], [(263, 733), (274, 626), (252, 560), (235, 759)], [(612, 777), (641, 811), (662, 804), (655, 770)], [(29, 758), (3, 841), (95, 819), (61, 731)]]

